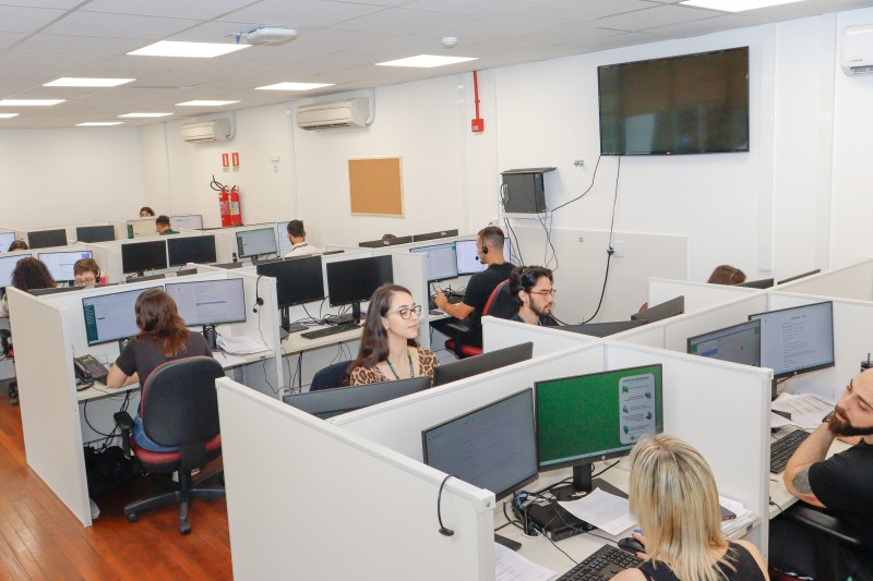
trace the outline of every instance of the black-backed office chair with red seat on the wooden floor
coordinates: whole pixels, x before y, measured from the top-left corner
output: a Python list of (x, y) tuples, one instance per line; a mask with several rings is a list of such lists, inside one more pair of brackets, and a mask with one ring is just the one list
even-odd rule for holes
[(218, 426), (218, 399), (215, 379), (224, 377), (222, 364), (212, 358), (196, 356), (170, 361), (157, 367), (142, 388), (140, 416), (145, 434), (162, 446), (178, 446), (170, 452), (146, 450), (131, 438), (131, 449), (143, 470), (178, 472), (179, 483), (167, 493), (136, 500), (124, 507), (124, 516), (136, 522), (143, 510), (179, 503), (179, 532), (188, 534), (188, 510), (194, 498), (223, 498), (224, 488), (204, 488), (204, 482), (222, 479), (219, 469), (191, 482), (191, 472), (201, 470), (222, 453)]

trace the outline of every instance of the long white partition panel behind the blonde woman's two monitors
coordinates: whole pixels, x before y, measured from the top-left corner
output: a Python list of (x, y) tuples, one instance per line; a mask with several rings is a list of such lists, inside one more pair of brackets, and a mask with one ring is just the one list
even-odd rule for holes
[(331, 421), (421, 460), (421, 431), (515, 394), (535, 382), (603, 368), (601, 343), (582, 344), (338, 415)]

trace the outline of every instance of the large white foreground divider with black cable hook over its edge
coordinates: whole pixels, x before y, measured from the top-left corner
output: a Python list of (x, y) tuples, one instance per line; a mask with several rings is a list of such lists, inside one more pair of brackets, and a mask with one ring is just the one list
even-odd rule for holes
[(450, 480), (444, 536), (441, 472), (229, 379), (217, 388), (235, 578), (494, 578), (493, 494)]

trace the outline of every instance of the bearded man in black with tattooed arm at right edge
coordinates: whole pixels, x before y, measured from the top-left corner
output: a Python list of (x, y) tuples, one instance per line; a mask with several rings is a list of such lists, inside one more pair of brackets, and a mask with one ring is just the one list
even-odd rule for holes
[[(861, 436), (858, 444), (827, 458), (837, 437)], [(826, 459), (827, 458), (827, 459)], [(849, 382), (834, 412), (788, 461), (782, 475), (788, 491), (824, 508), (869, 543), (873, 533), (873, 370)], [(870, 545), (868, 545), (870, 546)], [(844, 578), (873, 579), (873, 555), (863, 546), (842, 549)], [(809, 529), (785, 519), (770, 522), (770, 567), (817, 577)]]

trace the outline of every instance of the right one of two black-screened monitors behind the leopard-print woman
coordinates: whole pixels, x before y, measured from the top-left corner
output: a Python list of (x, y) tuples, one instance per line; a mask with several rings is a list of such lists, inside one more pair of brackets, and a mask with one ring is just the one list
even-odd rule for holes
[(361, 302), (369, 301), (375, 289), (390, 282), (394, 282), (391, 256), (327, 263), (331, 306), (351, 304), (351, 319), (356, 323), (361, 319)]

